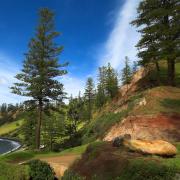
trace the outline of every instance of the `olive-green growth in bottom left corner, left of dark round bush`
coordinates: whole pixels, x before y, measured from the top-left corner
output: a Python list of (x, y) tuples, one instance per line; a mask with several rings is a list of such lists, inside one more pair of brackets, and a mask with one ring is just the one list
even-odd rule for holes
[(0, 180), (29, 180), (28, 168), (0, 162)]

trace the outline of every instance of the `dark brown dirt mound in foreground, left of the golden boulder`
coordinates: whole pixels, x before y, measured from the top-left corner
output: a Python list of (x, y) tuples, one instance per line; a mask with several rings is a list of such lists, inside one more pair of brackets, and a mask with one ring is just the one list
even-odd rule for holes
[[(141, 157), (138, 153), (128, 152), (123, 147), (112, 146), (112, 142), (105, 143), (101, 147), (87, 148), (82, 158), (73, 164), (70, 168), (86, 180), (98, 179), (106, 180), (121, 174), (121, 171), (127, 166), (128, 159)], [(94, 177), (94, 175), (96, 175)]]

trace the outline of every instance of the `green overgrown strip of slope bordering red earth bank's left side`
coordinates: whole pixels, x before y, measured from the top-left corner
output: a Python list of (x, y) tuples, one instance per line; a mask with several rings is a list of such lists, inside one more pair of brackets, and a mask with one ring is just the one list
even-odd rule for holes
[(102, 137), (107, 130), (119, 122), (123, 117), (127, 115), (127, 111), (120, 113), (107, 113), (94, 119), (84, 130), (84, 136), (82, 137), (83, 143), (89, 143), (95, 141), (97, 138)]

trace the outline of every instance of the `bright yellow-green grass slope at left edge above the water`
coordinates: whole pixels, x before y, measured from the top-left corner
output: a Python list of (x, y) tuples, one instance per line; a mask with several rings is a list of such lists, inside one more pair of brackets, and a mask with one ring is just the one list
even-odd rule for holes
[(14, 121), (0, 126), (0, 136), (15, 131), (16, 129), (20, 128), (23, 125), (23, 123), (24, 119), (20, 119), (18, 121)]

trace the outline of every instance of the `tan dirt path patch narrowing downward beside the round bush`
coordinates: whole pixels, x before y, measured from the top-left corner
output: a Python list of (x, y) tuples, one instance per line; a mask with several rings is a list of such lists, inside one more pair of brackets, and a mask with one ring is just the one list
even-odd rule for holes
[(64, 174), (64, 171), (76, 160), (80, 158), (80, 155), (64, 155), (58, 157), (43, 157), (42, 161), (46, 161), (54, 169), (56, 176), (60, 177)]

